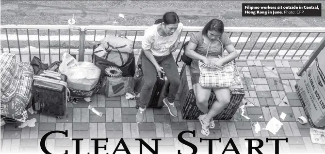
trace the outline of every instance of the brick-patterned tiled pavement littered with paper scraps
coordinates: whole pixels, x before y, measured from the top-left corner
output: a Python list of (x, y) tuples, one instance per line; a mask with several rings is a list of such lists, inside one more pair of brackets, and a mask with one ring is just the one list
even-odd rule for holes
[[(241, 70), (245, 89), (243, 103), (245, 115), (250, 120), (241, 116), (237, 110), (234, 117), (229, 120), (215, 121), (215, 128), (211, 129), (209, 138), (222, 138), (222, 142), (213, 142), (213, 152), (222, 153), (229, 138), (232, 138), (239, 152), (247, 154), (245, 138), (258, 138), (264, 142), (261, 152), (274, 154), (275, 142), (266, 142), (266, 138), (288, 138), (288, 143), (280, 141), (280, 154), (292, 153), (325, 153), (325, 145), (311, 143), (309, 137), (310, 125), (301, 125), (297, 118), (305, 116), (301, 102), (294, 89), (294, 85), (299, 80), (296, 72), (306, 61), (240, 61), (237, 65)], [(179, 96), (175, 104), (178, 107)], [(92, 105), (98, 111), (103, 112), (99, 117), (88, 110), (88, 105)], [(166, 107), (162, 109), (148, 108), (143, 124), (135, 122), (136, 105), (134, 100), (127, 100), (125, 97), (105, 98), (97, 95), (91, 102), (79, 101), (78, 104), (68, 104), (67, 114), (62, 119), (55, 117), (33, 114), (28, 119), (36, 118), (34, 127), (17, 128), (20, 124), (12, 123), (1, 126), (1, 152), (32, 152), (41, 151), (40, 140), (43, 135), (51, 130), (68, 130), (68, 137), (62, 134), (52, 134), (46, 141), (49, 152), (64, 153), (69, 150), (69, 154), (75, 151), (75, 141), (70, 138), (83, 138), (81, 141), (82, 154), (90, 152), (94, 154), (93, 138), (108, 138), (107, 150), (100, 149), (99, 152), (113, 153), (120, 138), (124, 138), (131, 154), (139, 152), (139, 141), (135, 138), (142, 138), (151, 147), (154, 147), (152, 138), (162, 138), (159, 141), (159, 152), (176, 154), (192, 153), (191, 148), (182, 144), (177, 139), (178, 134), (183, 130), (196, 130), (195, 137), (184, 134), (183, 138), (194, 143), (198, 147), (198, 153), (207, 153), (208, 141), (199, 141), (205, 138), (200, 133), (200, 123), (197, 120), (183, 120), (179, 117), (172, 117)], [(279, 115), (287, 114), (285, 120), (279, 119)], [(260, 118), (261, 117), (261, 118)], [(253, 123), (259, 122), (264, 128), (272, 118), (279, 119), (283, 126), (276, 135), (266, 130), (255, 133)], [(100, 146), (105, 141), (100, 141)], [(230, 145), (231, 146), (231, 145)], [(121, 149), (121, 147), (120, 147)], [(148, 152), (143, 148), (144, 152)], [(231, 149), (229, 147), (228, 149)], [(72, 150), (72, 151), (71, 151)], [(100, 153), (100, 154), (101, 154)], [(54, 154), (54, 153), (53, 153)]]

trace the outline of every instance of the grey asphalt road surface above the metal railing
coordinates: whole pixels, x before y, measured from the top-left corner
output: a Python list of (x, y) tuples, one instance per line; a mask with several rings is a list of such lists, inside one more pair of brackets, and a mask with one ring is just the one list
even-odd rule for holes
[[(243, 17), (242, 3), (322, 3), (322, 17)], [(77, 25), (150, 26), (175, 11), (186, 26), (204, 26), (212, 18), (227, 27), (325, 27), (323, 0), (1, 0), (1, 25), (65, 25), (75, 14)], [(125, 18), (118, 17), (125, 15)]]

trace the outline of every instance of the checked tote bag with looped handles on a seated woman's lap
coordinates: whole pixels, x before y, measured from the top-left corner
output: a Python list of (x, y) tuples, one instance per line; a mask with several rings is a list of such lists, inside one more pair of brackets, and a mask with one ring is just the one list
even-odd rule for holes
[[(224, 46), (220, 40), (218, 41), (221, 43), (222, 55), (223, 55)], [(206, 57), (208, 56), (210, 44), (211, 42), (209, 43)], [(209, 60), (211, 59), (210, 61), (213, 60), (213, 58), (208, 58), (208, 59)], [(231, 85), (237, 85), (241, 83), (237, 65), (234, 61), (230, 61), (229, 63), (220, 67), (207, 66), (202, 61), (199, 61), (198, 67), (200, 69), (199, 84), (202, 87), (205, 88), (229, 87)]]

